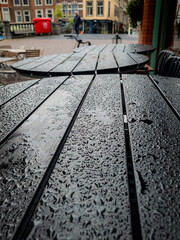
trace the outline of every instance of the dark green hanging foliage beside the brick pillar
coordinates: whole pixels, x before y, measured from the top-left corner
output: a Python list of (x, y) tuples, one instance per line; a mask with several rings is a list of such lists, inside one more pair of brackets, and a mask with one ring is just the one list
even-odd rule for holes
[(138, 22), (142, 21), (144, 0), (130, 0), (127, 4), (131, 27), (136, 28)]

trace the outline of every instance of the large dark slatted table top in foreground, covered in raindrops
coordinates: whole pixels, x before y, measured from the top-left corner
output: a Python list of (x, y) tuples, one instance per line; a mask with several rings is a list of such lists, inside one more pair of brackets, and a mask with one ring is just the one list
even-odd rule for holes
[(177, 239), (179, 87), (136, 74), (0, 86), (0, 238)]

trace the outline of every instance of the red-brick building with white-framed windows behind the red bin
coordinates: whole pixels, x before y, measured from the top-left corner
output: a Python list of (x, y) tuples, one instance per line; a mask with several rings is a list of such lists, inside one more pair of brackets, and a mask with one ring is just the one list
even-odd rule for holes
[(30, 23), (35, 17), (54, 21), (56, 0), (0, 0), (0, 17), (11, 23)]

